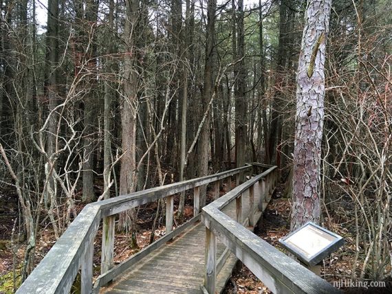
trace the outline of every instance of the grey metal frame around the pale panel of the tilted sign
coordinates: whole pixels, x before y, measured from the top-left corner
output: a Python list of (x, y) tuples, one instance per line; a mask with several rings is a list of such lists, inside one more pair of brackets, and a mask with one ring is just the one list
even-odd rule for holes
[[(327, 234), (329, 238), (333, 238), (334, 240), (331, 240), (329, 244), (324, 247), (323, 249), (320, 249), (318, 252), (312, 254), (311, 256), (305, 255), (303, 252), (305, 252), (305, 249), (301, 249), (298, 246), (293, 246), (290, 244), (290, 242), (287, 242), (287, 239), (292, 237), (294, 234), (298, 233), (298, 231), (301, 231), (301, 229), (306, 228), (307, 226), (311, 226), (312, 229), (315, 231), (315, 234), (319, 234), (320, 236), (323, 234)], [(318, 231), (318, 232), (317, 232)], [(323, 238), (323, 237), (320, 237)], [(305, 242), (306, 240), (304, 240)], [(312, 222), (307, 222), (305, 225), (302, 227), (296, 229), (292, 233), (288, 234), (287, 236), (281, 238), (279, 240), (281, 245), (285, 247), (288, 251), (293, 253), (301, 262), (309, 265), (309, 266), (314, 266), (318, 264), (321, 260), (329, 256), (332, 252), (336, 251), (339, 247), (341, 247), (345, 240), (341, 236), (338, 236), (331, 231), (328, 231), (327, 229), (324, 229), (323, 227), (320, 227), (319, 225), (316, 225)]]

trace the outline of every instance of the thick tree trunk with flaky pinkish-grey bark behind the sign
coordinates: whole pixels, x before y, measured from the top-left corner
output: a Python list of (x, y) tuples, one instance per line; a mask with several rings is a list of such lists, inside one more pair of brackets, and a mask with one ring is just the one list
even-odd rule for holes
[(325, 95), (325, 36), (331, 0), (309, 0), (298, 63), (292, 230), (320, 220), (320, 159)]

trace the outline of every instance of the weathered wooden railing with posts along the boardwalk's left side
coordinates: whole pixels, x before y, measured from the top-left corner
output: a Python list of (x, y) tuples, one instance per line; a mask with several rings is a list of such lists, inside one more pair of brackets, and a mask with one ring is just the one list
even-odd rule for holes
[[(69, 293), (72, 284), (80, 271), (81, 293), (91, 293), (99, 290), (125, 269), (131, 267), (167, 240), (171, 240), (200, 219), (199, 188), (208, 183), (215, 183), (215, 199), (219, 197), (219, 181), (228, 179), (231, 187), (231, 177), (236, 176), (237, 185), (241, 174), (251, 174), (252, 166), (244, 166), (207, 177), (200, 177), (159, 188), (151, 188), (132, 194), (118, 196), (112, 199), (91, 203), (78, 214), (64, 234), (57, 240), (45, 258), (23, 282), (17, 293)], [(173, 195), (185, 190), (194, 190), (194, 217), (182, 226), (173, 229)], [(114, 256), (114, 216), (133, 207), (166, 198), (166, 235), (156, 240), (142, 251), (131, 256), (122, 264), (112, 267)], [(93, 249), (94, 238), (101, 220), (105, 229), (102, 236), (101, 269), (105, 269), (93, 286)]]

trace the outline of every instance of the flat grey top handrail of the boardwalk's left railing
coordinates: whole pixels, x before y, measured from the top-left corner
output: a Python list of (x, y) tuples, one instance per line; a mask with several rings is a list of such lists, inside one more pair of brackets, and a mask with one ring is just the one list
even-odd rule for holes
[[(71, 225), (69, 225), (61, 238), (57, 240), (52, 249), (45, 255), (43, 260), (41, 260), (36, 269), (23, 282), (17, 293), (69, 293), (80, 268), (82, 270), (81, 293), (91, 293), (92, 248), (102, 218), (113, 216), (133, 207), (151, 203), (157, 199), (163, 199), (188, 189), (195, 188), (195, 190), (198, 190), (198, 187), (201, 185), (220, 181), (227, 177), (230, 178), (240, 172), (250, 170), (252, 170), (252, 166), (243, 166), (242, 168), (235, 168), (234, 170), (219, 172), (218, 174), (211, 174), (206, 177), (172, 183), (170, 185), (151, 188), (86, 205)], [(195, 203), (199, 205), (197, 201), (199, 199), (195, 196)], [(171, 205), (173, 205), (173, 202), (171, 202)], [(195, 212), (195, 216), (197, 216), (199, 207), (197, 207), (197, 211), (195, 210)], [(114, 238), (114, 236), (111, 236), (111, 238)], [(113, 242), (111, 243), (113, 244)], [(163, 243), (155, 242), (150, 246), (155, 249)], [(111, 250), (113, 251), (113, 248)], [(144, 254), (145, 252), (140, 254), (140, 256), (144, 256)], [(120, 272), (116, 270), (111, 273), (118, 274)], [(113, 274), (111, 274), (112, 278)]]

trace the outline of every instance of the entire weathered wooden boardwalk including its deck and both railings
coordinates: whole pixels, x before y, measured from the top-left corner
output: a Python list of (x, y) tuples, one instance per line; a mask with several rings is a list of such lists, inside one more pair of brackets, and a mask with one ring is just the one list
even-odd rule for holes
[[(260, 168), (264, 171), (259, 174), (254, 172)], [(252, 172), (257, 175), (203, 208), (202, 223), (197, 223), (200, 220), (200, 215), (197, 215), (171, 231), (174, 194), (193, 189), (193, 207), (198, 212), (202, 185), (213, 185), (217, 197), (222, 181), (226, 180), (230, 187), (232, 177), (235, 176), (238, 182), (241, 173)], [(248, 230), (252, 227), (244, 227), (249, 220), (251, 224), (257, 223), (261, 212), (256, 210), (267, 207), (277, 179), (276, 166), (251, 163), (206, 177), (90, 203), (69, 225), (17, 293), (69, 293), (80, 273), (82, 294), (215, 294), (224, 289), (236, 258), (274, 293), (340, 293), (327, 281), (252, 234)], [(260, 192), (263, 203), (260, 203)], [(166, 229), (170, 232), (111, 268), (116, 215), (158, 199), (166, 199), (166, 211), (171, 212), (166, 214)], [(250, 207), (254, 207), (255, 211), (250, 212)], [(103, 273), (94, 282), (94, 240), (102, 222), (104, 238), (100, 256)], [(233, 255), (230, 256), (232, 253), (226, 246)], [(205, 256), (207, 267), (204, 266)], [(107, 286), (109, 282), (111, 284)]]

